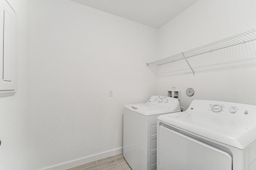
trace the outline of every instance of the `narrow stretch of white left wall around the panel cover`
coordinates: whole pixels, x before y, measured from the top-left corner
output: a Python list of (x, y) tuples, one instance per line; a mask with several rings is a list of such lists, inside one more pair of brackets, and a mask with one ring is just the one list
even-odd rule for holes
[(28, 47), (29, 2), (8, 0), (18, 15), (18, 87), (11, 97), (0, 98), (0, 169), (28, 169)]

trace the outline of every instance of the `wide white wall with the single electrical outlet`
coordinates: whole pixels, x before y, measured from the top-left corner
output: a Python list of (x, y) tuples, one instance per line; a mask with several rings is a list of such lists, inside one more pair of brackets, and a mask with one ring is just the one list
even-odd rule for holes
[(156, 94), (157, 30), (70, 0), (30, 15), (30, 168), (122, 152), (124, 104)]

